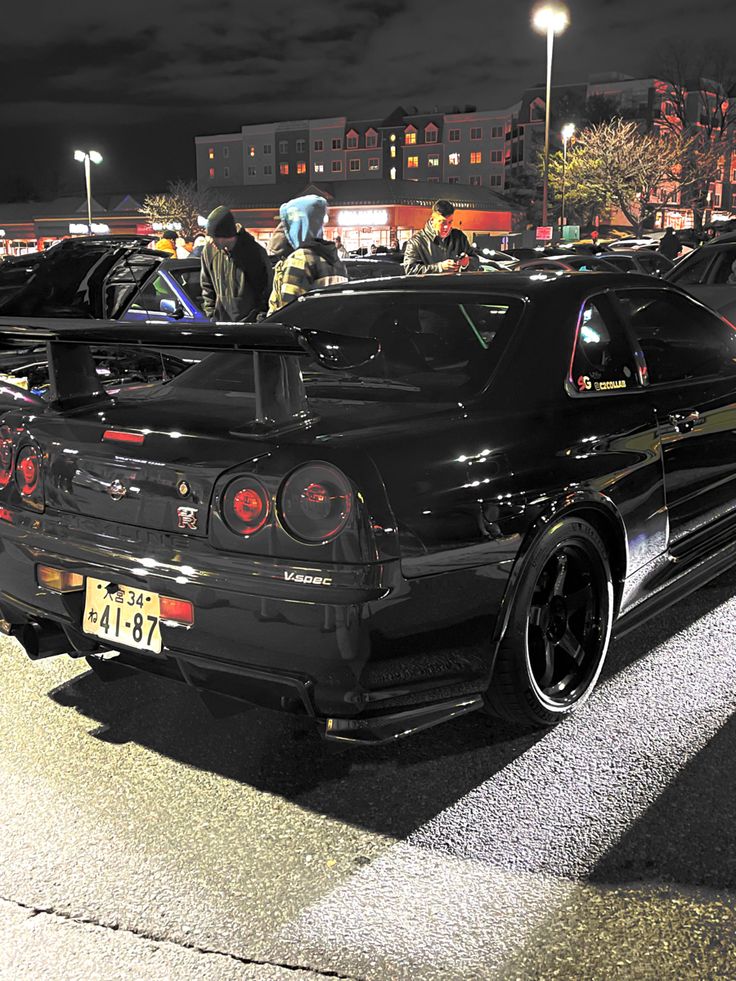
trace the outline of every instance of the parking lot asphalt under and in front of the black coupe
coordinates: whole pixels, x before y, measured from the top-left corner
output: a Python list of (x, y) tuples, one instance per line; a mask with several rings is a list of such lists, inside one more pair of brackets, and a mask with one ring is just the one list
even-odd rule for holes
[(0, 647), (0, 978), (736, 977), (736, 573), (548, 732), (375, 750)]

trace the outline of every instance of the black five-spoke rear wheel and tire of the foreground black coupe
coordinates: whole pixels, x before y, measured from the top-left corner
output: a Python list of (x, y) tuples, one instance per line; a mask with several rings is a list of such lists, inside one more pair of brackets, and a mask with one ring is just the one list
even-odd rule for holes
[(524, 560), (499, 645), (487, 710), (509, 722), (551, 726), (595, 687), (613, 623), (613, 581), (596, 530), (562, 518)]

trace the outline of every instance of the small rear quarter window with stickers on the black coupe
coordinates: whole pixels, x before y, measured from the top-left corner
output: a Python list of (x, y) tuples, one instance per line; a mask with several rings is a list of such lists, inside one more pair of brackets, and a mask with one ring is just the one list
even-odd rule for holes
[(575, 332), (568, 391), (578, 395), (640, 388), (636, 360), (621, 324), (597, 300), (583, 307)]

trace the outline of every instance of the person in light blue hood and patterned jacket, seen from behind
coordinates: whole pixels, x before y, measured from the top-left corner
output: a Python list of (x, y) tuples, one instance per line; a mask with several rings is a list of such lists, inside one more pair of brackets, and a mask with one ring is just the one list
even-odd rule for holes
[(294, 251), (274, 270), (269, 314), (317, 286), (347, 282), (345, 265), (335, 245), (322, 238), (326, 214), (327, 201), (317, 194), (306, 194), (281, 205), (281, 227)]

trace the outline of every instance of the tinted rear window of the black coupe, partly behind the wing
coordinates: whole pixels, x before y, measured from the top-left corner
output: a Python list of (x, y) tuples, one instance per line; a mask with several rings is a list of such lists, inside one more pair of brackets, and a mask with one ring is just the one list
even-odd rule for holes
[[(304, 330), (375, 338), (380, 345), (371, 360), (352, 368), (303, 359), (312, 398), (462, 401), (488, 384), (522, 310), (516, 297), (335, 294), (292, 303), (278, 319)], [(251, 359), (214, 355), (175, 385), (180, 393), (182, 387), (224, 396), (252, 392)]]

